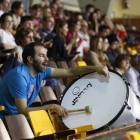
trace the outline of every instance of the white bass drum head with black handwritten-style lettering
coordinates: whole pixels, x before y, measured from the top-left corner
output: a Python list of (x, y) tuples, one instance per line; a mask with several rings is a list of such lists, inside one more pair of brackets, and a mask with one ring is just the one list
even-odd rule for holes
[(92, 113), (74, 112), (61, 118), (68, 128), (94, 125), (94, 131), (104, 129), (123, 112), (128, 99), (128, 87), (122, 77), (110, 71), (105, 77), (96, 72), (79, 76), (70, 83), (60, 97), (60, 105), (67, 110), (92, 108)]

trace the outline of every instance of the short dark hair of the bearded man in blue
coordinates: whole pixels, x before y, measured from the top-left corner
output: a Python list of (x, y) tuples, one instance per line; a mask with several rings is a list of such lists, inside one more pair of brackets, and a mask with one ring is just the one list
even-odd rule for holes
[(22, 53), (22, 58), (23, 58), (23, 62), (24, 64), (27, 64), (28, 60), (27, 60), (27, 57), (28, 56), (31, 56), (32, 58), (35, 57), (35, 46), (43, 46), (42, 43), (39, 43), (39, 42), (32, 42), (32, 43), (29, 43), (27, 44), (25, 47), (24, 47), (24, 50), (23, 50), (23, 53)]

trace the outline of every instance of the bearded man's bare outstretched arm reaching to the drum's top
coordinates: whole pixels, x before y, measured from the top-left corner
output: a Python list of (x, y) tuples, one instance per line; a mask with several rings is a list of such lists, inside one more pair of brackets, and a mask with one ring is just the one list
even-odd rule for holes
[(51, 75), (49, 77), (73, 77), (81, 75), (88, 72), (96, 71), (100, 75), (108, 76), (108, 69), (105, 66), (84, 66), (84, 67), (75, 67), (69, 69), (55, 69), (52, 68)]

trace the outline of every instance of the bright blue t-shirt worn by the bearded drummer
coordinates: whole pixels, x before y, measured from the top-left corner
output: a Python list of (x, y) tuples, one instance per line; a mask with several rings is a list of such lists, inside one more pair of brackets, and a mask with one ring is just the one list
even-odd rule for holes
[(30, 106), (37, 97), (41, 81), (51, 74), (51, 68), (32, 77), (26, 65), (22, 64), (9, 71), (0, 81), (0, 106), (5, 110), (0, 111), (0, 118), (9, 114), (18, 114), (14, 98), (26, 98)]

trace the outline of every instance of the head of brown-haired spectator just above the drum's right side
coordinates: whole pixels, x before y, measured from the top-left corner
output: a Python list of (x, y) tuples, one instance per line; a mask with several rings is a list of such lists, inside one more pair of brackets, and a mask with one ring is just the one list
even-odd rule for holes
[(131, 58), (129, 55), (118, 55), (114, 63), (114, 70), (122, 75), (127, 69), (130, 68), (130, 60)]

